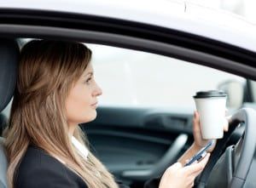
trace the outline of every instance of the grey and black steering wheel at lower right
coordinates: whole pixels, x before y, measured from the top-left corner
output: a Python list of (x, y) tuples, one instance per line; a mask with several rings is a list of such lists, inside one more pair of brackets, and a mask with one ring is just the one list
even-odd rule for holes
[[(227, 147), (231, 134), (241, 124), (245, 130), (240, 140), (236, 145)], [(255, 147), (256, 111), (242, 108), (231, 117), (229, 131), (224, 134), (222, 140), (218, 140), (206, 168), (195, 179), (194, 187), (243, 187), (253, 162)]]

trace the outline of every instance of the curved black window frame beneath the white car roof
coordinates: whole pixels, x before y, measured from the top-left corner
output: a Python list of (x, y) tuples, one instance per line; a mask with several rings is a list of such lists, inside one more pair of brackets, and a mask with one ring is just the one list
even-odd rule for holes
[(36, 37), (131, 48), (186, 60), (256, 80), (256, 53), (160, 26), (32, 9), (1, 9), (5, 37)]

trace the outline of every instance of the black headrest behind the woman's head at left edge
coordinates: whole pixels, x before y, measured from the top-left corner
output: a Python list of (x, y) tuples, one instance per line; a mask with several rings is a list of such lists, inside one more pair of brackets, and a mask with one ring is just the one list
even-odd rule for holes
[(15, 91), (19, 53), (15, 40), (0, 38), (0, 111), (8, 105)]

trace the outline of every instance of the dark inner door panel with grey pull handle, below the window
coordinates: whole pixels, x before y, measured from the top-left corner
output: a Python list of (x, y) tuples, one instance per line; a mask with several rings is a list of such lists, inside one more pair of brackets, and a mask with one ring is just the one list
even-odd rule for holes
[[(191, 115), (154, 109), (99, 107), (83, 125), (91, 151), (119, 179), (143, 183), (160, 175), (189, 147)], [(191, 142), (191, 140), (190, 140)]]

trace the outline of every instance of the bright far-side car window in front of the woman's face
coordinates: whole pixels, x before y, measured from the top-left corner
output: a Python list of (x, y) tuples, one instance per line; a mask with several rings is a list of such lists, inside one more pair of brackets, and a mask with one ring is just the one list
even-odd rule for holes
[(224, 71), (137, 50), (86, 44), (92, 49), (100, 105), (193, 107), (193, 95), (245, 79)]

